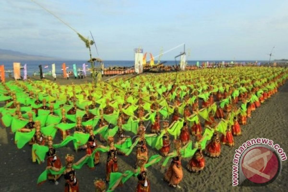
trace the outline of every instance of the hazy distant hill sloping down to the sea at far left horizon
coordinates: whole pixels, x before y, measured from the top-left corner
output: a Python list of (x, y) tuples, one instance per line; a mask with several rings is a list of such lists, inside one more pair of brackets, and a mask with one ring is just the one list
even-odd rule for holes
[(53, 58), (40, 55), (29, 55), (17, 51), (0, 49), (0, 60), (55, 60), (59, 58)]

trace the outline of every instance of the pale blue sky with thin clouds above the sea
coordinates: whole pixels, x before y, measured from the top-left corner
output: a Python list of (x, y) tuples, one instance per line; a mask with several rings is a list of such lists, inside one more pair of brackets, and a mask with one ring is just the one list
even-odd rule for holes
[[(288, 59), (287, 0), (35, 0), (88, 37), (103, 60), (133, 60), (185, 43), (189, 60)], [(87, 59), (74, 31), (30, 0), (0, 1), (0, 49)], [(93, 47), (93, 55), (96, 50)], [(173, 60), (182, 51), (163, 56)], [(272, 57), (272, 59), (274, 59)]]

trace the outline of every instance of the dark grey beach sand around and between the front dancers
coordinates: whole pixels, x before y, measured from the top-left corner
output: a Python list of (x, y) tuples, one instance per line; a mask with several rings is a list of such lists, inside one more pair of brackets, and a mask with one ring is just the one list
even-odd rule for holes
[[(37, 78), (39, 79), (39, 78)], [(91, 78), (88, 78), (88, 80)], [(31, 80), (36, 80), (31, 78)], [(84, 83), (86, 79), (72, 79), (69, 83)], [(67, 84), (67, 80), (57, 78), (60, 84)], [(238, 149), (242, 143), (252, 138), (264, 137), (269, 138), (278, 143), (286, 154), (288, 153), (288, 82), (279, 88), (278, 93), (266, 100), (260, 108), (252, 112), (252, 118), (249, 118), (246, 126), (241, 126), (242, 136), (234, 137), (235, 147), (221, 146), (221, 156), (212, 159), (205, 156), (206, 167), (200, 174), (190, 173), (185, 167), (190, 158), (182, 160), (184, 178), (180, 183), (181, 189), (172, 189), (163, 181), (164, 169), (160, 164), (155, 164), (148, 168), (148, 178), (151, 183), (151, 192), (154, 191), (287, 191), (288, 166), (287, 161), (282, 162), (281, 175), (271, 184), (263, 187), (232, 187), (232, 160), (235, 149)], [(148, 129), (149, 131), (150, 129)], [(128, 135), (130, 133), (127, 133)], [(132, 135), (132, 134), (131, 134)], [(194, 140), (194, 137), (192, 137)], [(60, 142), (60, 133), (56, 134), (54, 143)], [(99, 142), (100, 143), (100, 142)], [(22, 149), (16, 149), (14, 145), (14, 134), (10, 128), (0, 128), (0, 191), (8, 192), (63, 192), (64, 178), (59, 180), (59, 185), (47, 181), (43, 185), (37, 186), (37, 178), (46, 168), (44, 164), (33, 164), (31, 161), (31, 146), (26, 145)], [(105, 144), (104, 144), (105, 145)], [(76, 155), (77, 161), (85, 155), (85, 151), (73, 150), (72, 144), (68, 147), (58, 149), (58, 156), (62, 164), (65, 163), (65, 155), (71, 153)], [(149, 147), (149, 157), (158, 154), (156, 150)], [(93, 180), (95, 178), (105, 179), (105, 162), (107, 154), (101, 154), (101, 164), (96, 166), (94, 170), (90, 170), (84, 166), (81, 170), (76, 170), (76, 178), (79, 181), (81, 192), (95, 191)], [(129, 157), (118, 156), (119, 172), (133, 170), (135, 162), (135, 149)], [(166, 166), (168, 168), (170, 163)], [(123, 187), (119, 187), (115, 192), (119, 191), (135, 191), (137, 178), (132, 177)]]

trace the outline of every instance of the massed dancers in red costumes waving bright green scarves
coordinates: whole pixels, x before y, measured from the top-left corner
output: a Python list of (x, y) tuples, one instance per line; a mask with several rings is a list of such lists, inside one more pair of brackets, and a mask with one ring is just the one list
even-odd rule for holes
[[(32, 146), (33, 162), (46, 159), (38, 184), (58, 184), (63, 175), (65, 192), (77, 192), (75, 170), (84, 164), (95, 168), (107, 153), (105, 180), (95, 181), (96, 191), (113, 191), (135, 176), (135, 190), (149, 192), (147, 168), (161, 160), (166, 166), (170, 159), (164, 181), (181, 188), (181, 160), (190, 158), (189, 172), (202, 172), (205, 158), (219, 157), (222, 145), (234, 146), (247, 118), (287, 78), (285, 68), (235, 67), (114, 78), (97, 87), (10, 81), (0, 85), (1, 123), (15, 133), (17, 148)], [(55, 144), (58, 131), (62, 142)], [(67, 154), (63, 164), (57, 150), (70, 142), (86, 155), (75, 162)], [(122, 170), (117, 156), (134, 148), (134, 170)], [(149, 157), (149, 149), (159, 154)]]

